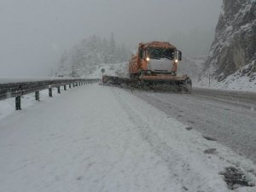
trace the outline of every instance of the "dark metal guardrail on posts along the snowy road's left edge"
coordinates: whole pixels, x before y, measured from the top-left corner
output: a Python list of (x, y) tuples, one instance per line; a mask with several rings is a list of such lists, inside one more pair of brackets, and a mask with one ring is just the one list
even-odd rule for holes
[(29, 81), (19, 83), (0, 84), (0, 101), (15, 97), (15, 108), (21, 110), (21, 96), (35, 92), (35, 99), (39, 101), (39, 91), (49, 90), (49, 96), (52, 96), (52, 88), (57, 88), (61, 93), (61, 86), (67, 90), (67, 85), (71, 89), (72, 86), (80, 86), (82, 84), (93, 84), (99, 82), (100, 79), (54, 79), (42, 81)]

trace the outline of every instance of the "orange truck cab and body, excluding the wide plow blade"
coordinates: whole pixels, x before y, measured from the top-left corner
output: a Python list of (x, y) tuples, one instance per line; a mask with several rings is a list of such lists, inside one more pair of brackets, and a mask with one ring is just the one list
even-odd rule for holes
[(182, 52), (167, 42), (141, 43), (137, 55), (131, 55), (129, 73), (131, 78), (185, 80), (177, 77), (177, 63), (182, 60)]

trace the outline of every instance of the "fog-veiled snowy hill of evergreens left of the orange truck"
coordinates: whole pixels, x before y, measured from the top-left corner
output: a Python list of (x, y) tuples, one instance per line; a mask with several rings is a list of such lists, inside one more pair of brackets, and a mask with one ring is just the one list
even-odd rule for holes
[(120, 63), (129, 61), (130, 57), (131, 51), (125, 44), (117, 45), (113, 33), (109, 39), (93, 35), (61, 55), (58, 74), (80, 77), (90, 74), (102, 63)]

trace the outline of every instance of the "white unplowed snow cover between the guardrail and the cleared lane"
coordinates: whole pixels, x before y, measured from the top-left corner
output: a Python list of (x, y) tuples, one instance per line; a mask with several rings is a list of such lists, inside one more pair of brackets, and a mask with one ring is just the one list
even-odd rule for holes
[(250, 160), (186, 127), (118, 88), (41, 97), (0, 121), (0, 191), (223, 192), (227, 166), (256, 182)]

